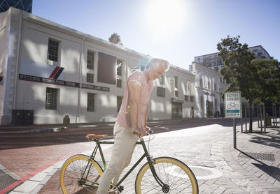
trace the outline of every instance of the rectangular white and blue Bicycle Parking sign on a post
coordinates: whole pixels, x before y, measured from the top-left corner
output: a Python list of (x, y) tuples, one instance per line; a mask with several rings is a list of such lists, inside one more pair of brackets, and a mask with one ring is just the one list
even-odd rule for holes
[(225, 92), (225, 117), (241, 118), (240, 91)]

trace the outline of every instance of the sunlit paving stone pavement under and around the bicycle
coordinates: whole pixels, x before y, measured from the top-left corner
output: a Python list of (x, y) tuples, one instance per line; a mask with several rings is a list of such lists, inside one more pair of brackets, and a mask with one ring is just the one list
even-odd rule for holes
[[(253, 123), (253, 130), (260, 131), (257, 122)], [(267, 128), (267, 133), (240, 133), (240, 126), (237, 126), (237, 149), (233, 148), (232, 139), (232, 127), (228, 126), (214, 124), (186, 128), (155, 134), (150, 142), (150, 153), (154, 158), (170, 156), (189, 165), (202, 194), (280, 193), (280, 128)], [(111, 145), (105, 149), (106, 161), (109, 161)], [(142, 153), (141, 146), (137, 146), (132, 164)], [(90, 154), (90, 151), (85, 151), (85, 154)], [(62, 163), (55, 163), (10, 193), (62, 193), (59, 186)], [(123, 182), (123, 193), (134, 193), (134, 180), (144, 163), (142, 161)], [(199, 174), (198, 169), (208, 170), (211, 176)], [(30, 191), (30, 188), (33, 189)]]

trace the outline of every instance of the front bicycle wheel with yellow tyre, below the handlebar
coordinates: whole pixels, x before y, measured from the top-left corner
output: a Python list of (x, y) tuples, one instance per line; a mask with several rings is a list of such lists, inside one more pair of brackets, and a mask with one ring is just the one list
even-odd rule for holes
[(146, 163), (137, 174), (135, 192), (144, 193), (193, 193), (198, 194), (195, 174), (183, 162), (169, 157), (154, 159), (153, 168), (162, 181), (162, 186), (155, 180), (150, 165)]

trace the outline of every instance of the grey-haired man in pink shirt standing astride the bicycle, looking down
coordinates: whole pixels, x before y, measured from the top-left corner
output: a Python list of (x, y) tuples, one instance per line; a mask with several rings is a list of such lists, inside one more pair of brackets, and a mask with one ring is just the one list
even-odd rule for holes
[(169, 70), (169, 62), (152, 58), (143, 72), (134, 71), (125, 84), (125, 94), (116, 124), (113, 128), (115, 143), (111, 161), (102, 175), (97, 194), (107, 194), (113, 180), (116, 185), (123, 169), (130, 164), (139, 137), (146, 135), (148, 101), (153, 90), (153, 80)]

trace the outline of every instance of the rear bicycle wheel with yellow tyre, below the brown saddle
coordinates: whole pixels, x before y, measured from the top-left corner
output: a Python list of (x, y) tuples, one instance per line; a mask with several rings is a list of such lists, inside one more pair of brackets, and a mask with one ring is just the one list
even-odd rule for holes
[(60, 172), (60, 186), (64, 194), (97, 191), (103, 171), (96, 161), (90, 160), (88, 163), (89, 158), (89, 156), (78, 154), (64, 162)]

